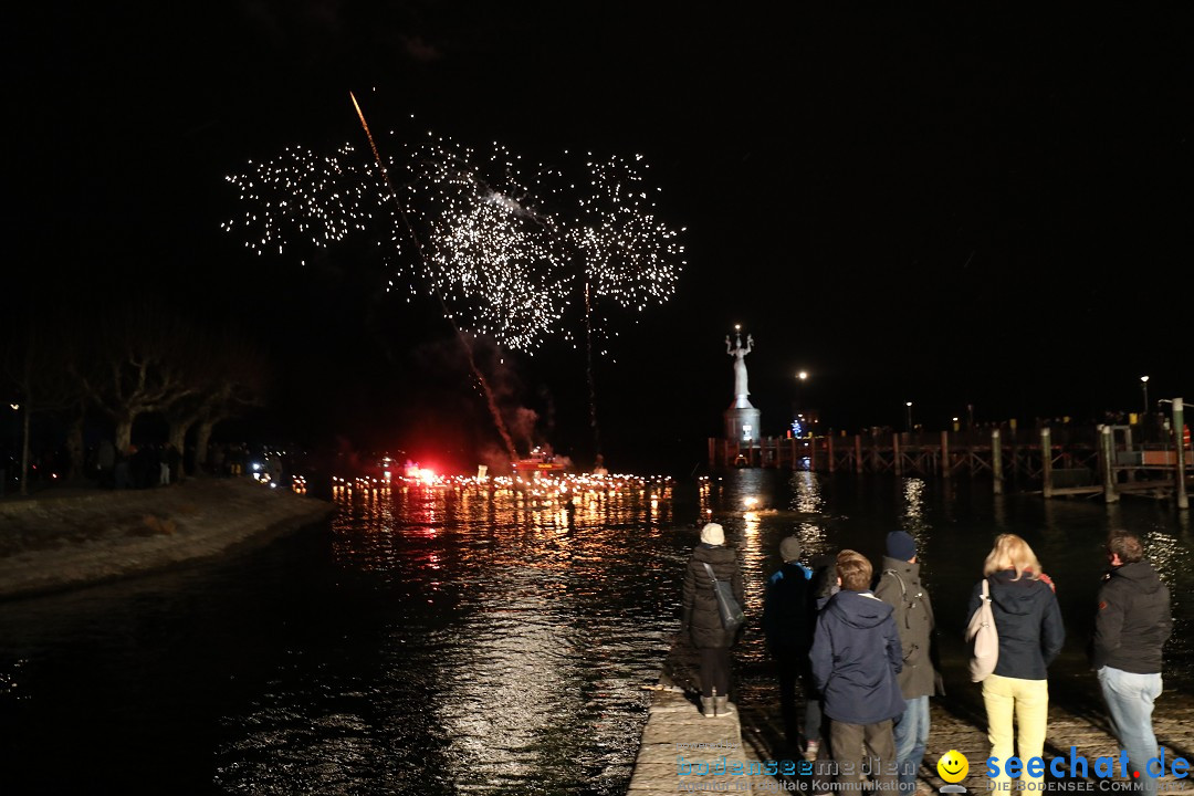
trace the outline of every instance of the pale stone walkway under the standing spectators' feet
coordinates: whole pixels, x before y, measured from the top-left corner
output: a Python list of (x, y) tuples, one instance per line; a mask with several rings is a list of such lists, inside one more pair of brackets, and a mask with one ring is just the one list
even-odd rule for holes
[[(824, 776), (769, 776), (768, 761), (787, 771), (799, 766), (799, 752), (783, 738), (777, 699), (770, 693), (741, 698), (739, 711), (725, 718), (704, 718), (697, 708), (695, 653), (676, 643), (654, 687), (650, 716), (642, 733), (638, 761), (630, 779), (629, 796), (676, 792), (824, 792)], [(1047, 775), (1050, 790), (1114, 792), (1130, 783), (1120, 775), (1120, 745), (1110, 734), (1104, 706), (1091, 690), (1094, 674), (1085, 679), (1051, 679), (1050, 724), (1045, 760), (1064, 758), (1059, 767), (1069, 771), (1070, 747), (1089, 761), (1087, 776), (1061, 780)], [(961, 783), (970, 792), (989, 791), (985, 764), (990, 746), (981, 686), (949, 684), (950, 697), (934, 698), (931, 732), (919, 772), (918, 790), (935, 791), (946, 783), (937, 776), (937, 760), (956, 749), (970, 761), (970, 776)], [(1167, 691), (1157, 702), (1153, 716), (1157, 742), (1165, 749), (1167, 765), (1181, 757), (1194, 764), (1194, 698)], [(1115, 758), (1116, 777), (1100, 779), (1095, 772), (1098, 757)], [(818, 763), (818, 765), (824, 765)], [(1192, 765), (1194, 769), (1194, 765)], [(774, 770), (774, 769), (771, 769)], [(736, 773), (740, 772), (740, 773)], [(701, 773), (706, 772), (706, 773)], [(1161, 794), (1189, 791), (1194, 777), (1176, 779), (1171, 773), (1158, 780)]]

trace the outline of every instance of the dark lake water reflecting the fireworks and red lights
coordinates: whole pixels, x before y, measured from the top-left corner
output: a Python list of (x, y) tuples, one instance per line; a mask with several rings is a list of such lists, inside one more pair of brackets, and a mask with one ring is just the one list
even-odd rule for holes
[[(1134, 529), (1174, 586), (1167, 686), (1194, 685), (1189, 518), (1147, 499), (739, 470), (581, 495), (576, 512), (476, 489), (336, 500), (332, 522), (265, 548), (0, 603), (0, 792), (624, 794), (709, 511), (755, 618), (788, 533), (875, 563), (888, 530), (913, 533), (954, 680), (991, 539), (1021, 533), (1067, 622), (1054, 698), (1095, 693), (1101, 545)], [(774, 703), (757, 624), (734, 661), (743, 704)]]

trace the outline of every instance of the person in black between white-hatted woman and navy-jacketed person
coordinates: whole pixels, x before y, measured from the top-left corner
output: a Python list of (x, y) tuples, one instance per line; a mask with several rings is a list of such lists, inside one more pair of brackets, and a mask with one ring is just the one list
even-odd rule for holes
[(805, 698), (805, 753), (816, 758), (820, 746), (820, 699), (813, 687), (813, 672), (808, 650), (813, 644), (817, 622), (817, 601), (813, 598), (808, 567), (800, 563), (802, 548), (795, 536), (780, 542), (783, 566), (767, 581), (763, 596), (763, 634), (767, 648), (775, 659), (780, 674), (780, 710), (788, 741), (800, 746), (800, 722), (796, 711), (796, 684)]

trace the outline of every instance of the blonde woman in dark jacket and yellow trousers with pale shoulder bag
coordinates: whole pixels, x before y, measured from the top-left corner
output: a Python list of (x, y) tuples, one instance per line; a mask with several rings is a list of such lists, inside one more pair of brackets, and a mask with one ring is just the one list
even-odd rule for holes
[[(986, 556), (983, 576), (991, 594), (991, 612), (999, 631), (999, 660), (995, 673), (983, 680), (986, 704), (987, 740), (991, 757), (999, 759), (996, 789), (1008, 789), (1004, 764), (1014, 754), (1026, 764), (1040, 758), (1045, 749), (1048, 724), (1047, 667), (1065, 643), (1061, 610), (1053, 585), (1041, 572), (1040, 562), (1028, 543), (1015, 533), (1001, 533)], [(981, 603), (983, 581), (974, 586), (970, 612)], [(1013, 739), (1013, 717), (1018, 734)], [(1018, 749), (1014, 748), (1013, 740)], [(1035, 767), (1035, 766), (1034, 766)], [(1044, 785), (1041, 777), (1022, 776), (1032, 788)]]

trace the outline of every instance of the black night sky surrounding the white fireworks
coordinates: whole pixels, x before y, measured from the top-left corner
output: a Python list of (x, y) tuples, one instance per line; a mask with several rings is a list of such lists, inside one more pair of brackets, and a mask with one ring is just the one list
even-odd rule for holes
[[(1188, 12), (965, 5), (30, 4), (5, 37), (2, 303), (232, 315), (276, 369), (235, 433), (470, 470), (496, 434), (433, 301), (387, 294), (359, 245), (300, 265), (220, 229), (250, 160), (368, 153), (355, 92), (399, 136), (651, 165), (688, 265), (667, 304), (610, 317), (614, 469), (703, 462), (734, 323), (769, 434), (794, 401), (853, 432), (905, 401), (933, 430), (967, 403), (1094, 420), (1139, 411), (1145, 374), (1194, 400)], [(587, 465), (583, 351), (480, 354)]]

